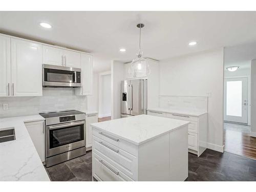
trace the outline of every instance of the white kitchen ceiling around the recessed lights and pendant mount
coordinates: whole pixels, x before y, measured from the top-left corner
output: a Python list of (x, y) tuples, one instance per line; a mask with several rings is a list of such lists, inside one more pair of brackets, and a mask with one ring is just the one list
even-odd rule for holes
[(256, 12), (0, 12), (1, 32), (93, 53), (96, 72), (133, 59), (139, 22), (144, 57), (157, 60), (256, 40)]

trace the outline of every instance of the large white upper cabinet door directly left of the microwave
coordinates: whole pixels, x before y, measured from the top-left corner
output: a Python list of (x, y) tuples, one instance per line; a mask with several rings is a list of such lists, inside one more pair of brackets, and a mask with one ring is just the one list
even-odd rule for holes
[(13, 96), (42, 95), (42, 46), (11, 38)]

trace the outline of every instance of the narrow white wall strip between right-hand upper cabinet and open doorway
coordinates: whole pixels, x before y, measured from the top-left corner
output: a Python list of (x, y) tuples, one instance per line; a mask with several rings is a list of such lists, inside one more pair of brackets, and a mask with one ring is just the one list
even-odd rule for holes
[(92, 95), (88, 95), (87, 98), (87, 109), (88, 111), (99, 111), (99, 97), (98, 97), (98, 81), (99, 75), (98, 73), (93, 73), (93, 90)]

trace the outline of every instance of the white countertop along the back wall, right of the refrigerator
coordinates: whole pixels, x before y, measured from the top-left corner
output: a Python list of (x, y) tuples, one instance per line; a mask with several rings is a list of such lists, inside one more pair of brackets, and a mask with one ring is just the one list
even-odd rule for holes
[(175, 113), (180, 115), (189, 115), (199, 117), (200, 115), (206, 114), (207, 111), (192, 110), (192, 109), (167, 109), (167, 108), (150, 108), (147, 111), (157, 111), (162, 113)]

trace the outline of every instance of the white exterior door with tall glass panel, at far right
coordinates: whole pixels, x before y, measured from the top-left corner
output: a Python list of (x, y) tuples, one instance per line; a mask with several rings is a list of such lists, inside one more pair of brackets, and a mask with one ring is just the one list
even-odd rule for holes
[(224, 120), (247, 124), (247, 77), (227, 78), (224, 83)]

